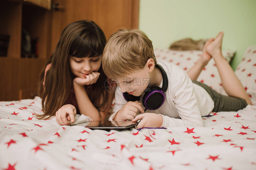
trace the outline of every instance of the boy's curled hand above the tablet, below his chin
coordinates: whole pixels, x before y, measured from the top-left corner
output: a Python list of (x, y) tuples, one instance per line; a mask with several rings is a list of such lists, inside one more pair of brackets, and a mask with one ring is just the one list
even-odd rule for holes
[(143, 108), (141, 107), (141, 103), (138, 101), (135, 102), (127, 102), (115, 115), (113, 120), (132, 120), (137, 115), (138, 110), (141, 113), (144, 112)]

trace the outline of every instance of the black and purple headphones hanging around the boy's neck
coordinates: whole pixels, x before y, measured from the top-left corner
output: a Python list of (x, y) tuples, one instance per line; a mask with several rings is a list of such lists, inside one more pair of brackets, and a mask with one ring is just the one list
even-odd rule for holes
[[(151, 88), (147, 88), (147, 91), (145, 92), (145, 94), (142, 97), (142, 104), (145, 107), (146, 111), (148, 110), (157, 110), (158, 108), (160, 108), (164, 101), (165, 101), (165, 92), (168, 88), (168, 77), (166, 75), (165, 70), (163, 69), (163, 67), (159, 64), (157, 64), (156, 66), (159, 67), (162, 76), (163, 76), (163, 86), (162, 88), (160, 87), (151, 87)], [(149, 90), (148, 90), (149, 89)], [(140, 101), (141, 96), (133, 96), (132, 94), (129, 94), (127, 92), (123, 93), (124, 99), (129, 102), (135, 102), (135, 101)]]

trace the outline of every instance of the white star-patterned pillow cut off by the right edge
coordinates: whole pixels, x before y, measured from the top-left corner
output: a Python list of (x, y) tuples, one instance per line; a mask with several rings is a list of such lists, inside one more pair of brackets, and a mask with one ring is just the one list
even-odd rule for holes
[(246, 49), (242, 61), (235, 70), (235, 74), (243, 84), (253, 105), (256, 105), (256, 45), (249, 46)]

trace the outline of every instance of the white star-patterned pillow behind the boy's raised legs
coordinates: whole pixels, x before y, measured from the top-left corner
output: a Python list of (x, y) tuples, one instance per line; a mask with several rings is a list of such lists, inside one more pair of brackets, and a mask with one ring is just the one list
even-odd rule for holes
[[(163, 60), (178, 65), (183, 70), (188, 71), (202, 55), (202, 51), (174, 51), (169, 49), (154, 49), (157, 60)], [(230, 62), (234, 57), (235, 51), (222, 51), (224, 58)], [(216, 90), (220, 94), (227, 95), (221, 84), (217, 67), (213, 59), (211, 59), (200, 73), (197, 81), (203, 82)]]

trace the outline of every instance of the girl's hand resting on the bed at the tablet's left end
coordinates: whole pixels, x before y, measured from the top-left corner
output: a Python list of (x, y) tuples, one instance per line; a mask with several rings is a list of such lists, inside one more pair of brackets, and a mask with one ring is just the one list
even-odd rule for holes
[(73, 123), (75, 121), (75, 116), (77, 115), (77, 110), (73, 105), (63, 105), (56, 112), (56, 121), (60, 125), (71, 125), (68, 121)]

